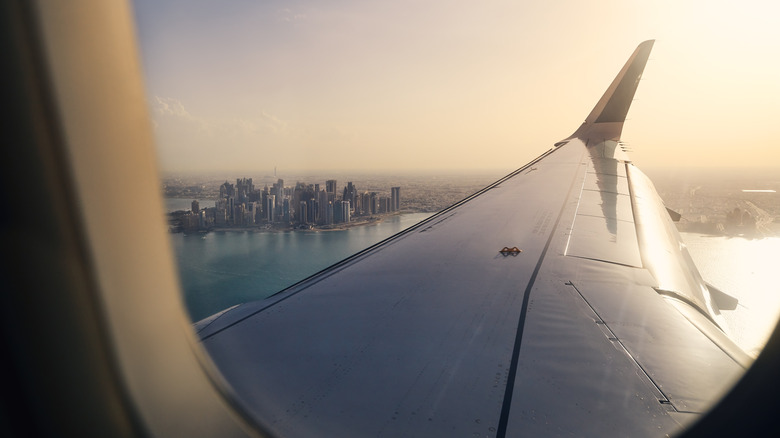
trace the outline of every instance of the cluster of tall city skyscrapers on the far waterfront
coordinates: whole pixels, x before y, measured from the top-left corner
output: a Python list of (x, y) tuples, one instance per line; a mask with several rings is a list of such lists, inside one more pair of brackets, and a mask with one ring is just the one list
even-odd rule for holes
[(279, 179), (270, 188), (255, 188), (252, 178), (239, 178), (235, 184), (225, 181), (219, 188), (214, 207), (201, 208), (192, 201), (191, 211), (182, 216), (185, 231), (211, 227), (245, 227), (265, 224), (280, 226), (333, 225), (348, 223), (356, 216), (400, 211), (401, 188), (392, 187), (390, 196), (360, 192), (348, 182), (339, 192), (336, 180), (320, 184), (298, 182), (285, 187)]

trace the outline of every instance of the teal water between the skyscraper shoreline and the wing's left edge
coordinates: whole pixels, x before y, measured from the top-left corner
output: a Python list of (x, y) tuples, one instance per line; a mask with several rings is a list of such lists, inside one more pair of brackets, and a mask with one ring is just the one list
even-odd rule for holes
[(428, 216), (403, 214), (338, 231), (172, 234), (187, 309), (198, 321), (265, 298)]

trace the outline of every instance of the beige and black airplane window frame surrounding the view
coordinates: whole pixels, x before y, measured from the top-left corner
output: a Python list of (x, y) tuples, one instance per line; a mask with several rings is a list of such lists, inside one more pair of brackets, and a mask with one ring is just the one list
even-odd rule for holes
[[(4, 371), (21, 382), (4, 391), (4, 416), (50, 417), (52, 424), (36, 430), (52, 435), (58, 428), (89, 430), (93, 412), (105, 420), (100, 427), (116, 435), (262, 434), (211, 367), (181, 303), (161, 220), (129, 6), (8, 2), (3, 17), (9, 23), (4, 52), (19, 66), (4, 85), (18, 108), (8, 131), (20, 145), (13, 159), (3, 160), (3, 190), (6, 199), (45, 218), (28, 223), (24, 220), (35, 214), (6, 218), (6, 233), (33, 235), (40, 224), (48, 239), (42, 245), (57, 248), (46, 253), (29, 242), (28, 247), (4, 248), (3, 276), (9, 285), (4, 307), (12, 304), (17, 311), (15, 316), (6, 312), (3, 343), (15, 361)], [(95, 41), (93, 35), (105, 38)], [(28, 179), (31, 193), (41, 198), (10, 188)], [(127, 198), (111, 197), (127, 189), (125, 180), (139, 181), (129, 190), (131, 198), (145, 199), (150, 207), (124, 216), (107, 213), (106, 208), (126, 205)], [(125, 221), (142, 227), (147, 238), (123, 229)], [(30, 281), (36, 275), (31, 267), (42, 261), (48, 264), (42, 277), (52, 281)], [(75, 274), (54, 276), (58, 272)], [(58, 345), (63, 340), (55, 332), (70, 338), (72, 362), (54, 360), (63, 357)], [(101, 370), (85, 375), (79, 367)], [(780, 326), (735, 387), (683, 435), (780, 429), (772, 397), (780, 390), (777, 369)], [(105, 378), (95, 381), (96, 374)], [(40, 387), (46, 383), (53, 386)], [(94, 397), (81, 400), (86, 407), (67, 396), (79, 388), (94, 391)], [(56, 395), (59, 390), (65, 395)], [(40, 396), (51, 400), (29, 401)], [(28, 402), (14, 410), (16, 399)], [(106, 400), (111, 400), (108, 408), (100, 409)], [(11, 420), (3, 424), (16, 430)]]

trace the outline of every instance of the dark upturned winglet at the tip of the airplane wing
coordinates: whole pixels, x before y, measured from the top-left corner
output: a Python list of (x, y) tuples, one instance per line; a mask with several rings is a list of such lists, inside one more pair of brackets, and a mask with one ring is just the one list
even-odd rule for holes
[(626, 120), (626, 114), (631, 107), (654, 42), (655, 40), (645, 41), (634, 50), (585, 122), (569, 139), (620, 140), (623, 122)]

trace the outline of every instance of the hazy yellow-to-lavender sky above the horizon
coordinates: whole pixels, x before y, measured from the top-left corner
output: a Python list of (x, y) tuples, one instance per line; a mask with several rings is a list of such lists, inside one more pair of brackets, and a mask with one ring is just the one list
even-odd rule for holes
[(134, 2), (164, 171), (503, 169), (656, 44), (640, 166), (780, 165), (774, 1)]

